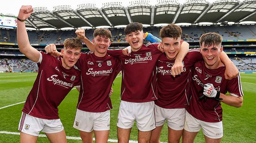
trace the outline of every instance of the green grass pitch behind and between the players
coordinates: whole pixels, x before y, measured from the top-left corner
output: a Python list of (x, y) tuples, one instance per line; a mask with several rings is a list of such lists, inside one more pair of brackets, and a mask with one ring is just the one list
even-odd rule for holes
[[(1, 73), (0, 74), (0, 108), (15, 103), (23, 102), (33, 86), (36, 73)], [(255, 142), (256, 132), (256, 74), (241, 74), (242, 88), (244, 93), (243, 106), (240, 108), (223, 107), (223, 143)], [(117, 139), (116, 121), (120, 104), (121, 77), (114, 81), (114, 93), (111, 96), (113, 109), (111, 110), (109, 139)], [(79, 137), (78, 130), (74, 129), (73, 121), (78, 101), (78, 91), (71, 90), (59, 106), (59, 116), (64, 125), (66, 135)], [(17, 130), (21, 117), (21, 109), (24, 103), (0, 109), (0, 132), (19, 132)], [(43, 134), (43, 133), (42, 133)], [(137, 140), (137, 128), (134, 125), (130, 140)], [(164, 126), (160, 140), (167, 142), (167, 125)], [(0, 133), (1, 143), (19, 142), (19, 135)], [(49, 142), (45, 137), (39, 137), (38, 142)], [(68, 139), (68, 142), (81, 143), (81, 140)], [(204, 142), (204, 136), (200, 131), (195, 139), (196, 143)]]

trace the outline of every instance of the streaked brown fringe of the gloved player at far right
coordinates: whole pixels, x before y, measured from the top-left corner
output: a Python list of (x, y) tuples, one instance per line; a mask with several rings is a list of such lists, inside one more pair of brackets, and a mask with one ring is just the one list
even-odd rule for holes
[(199, 39), (199, 44), (201, 47), (218, 46), (221, 44), (221, 42), (222, 36), (218, 33), (205, 33)]

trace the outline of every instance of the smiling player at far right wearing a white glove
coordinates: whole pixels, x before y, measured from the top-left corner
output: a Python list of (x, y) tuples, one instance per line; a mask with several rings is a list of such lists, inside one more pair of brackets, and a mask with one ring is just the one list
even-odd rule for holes
[[(194, 64), (190, 84), (191, 100), (185, 114), (183, 143), (193, 143), (200, 129), (203, 129), (206, 143), (219, 143), (223, 137), (221, 102), (241, 107), (243, 102), (240, 75), (226, 80), (226, 67), (220, 60), (223, 52), (222, 36), (206, 33), (200, 37), (202, 61)], [(227, 91), (230, 95), (226, 95)]]

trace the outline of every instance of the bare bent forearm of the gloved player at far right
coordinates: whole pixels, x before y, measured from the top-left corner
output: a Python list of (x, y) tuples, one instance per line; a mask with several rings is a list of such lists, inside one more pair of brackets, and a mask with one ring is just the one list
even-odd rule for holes
[(232, 95), (225, 95), (223, 93), (220, 94), (220, 98), (222, 98), (221, 102), (233, 106), (233, 107), (242, 107), (243, 105), (243, 97), (235, 97)]

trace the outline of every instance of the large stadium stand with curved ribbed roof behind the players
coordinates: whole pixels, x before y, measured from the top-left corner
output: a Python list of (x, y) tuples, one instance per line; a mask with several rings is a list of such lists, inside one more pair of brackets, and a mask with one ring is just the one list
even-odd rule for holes
[[(53, 7), (53, 11), (49, 11), (47, 7), (35, 7), (25, 25), (27, 28), (36, 29), (27, 30), (30, 44), (38, 50), (43, 50), (45, 45), (52, 43), (56, 44), (57, 48), (62, 48), (64, 40), (76, 37), (75, 29), (80, 27), (90, 27), (86, 29), (85, 36), (92, 40), (96, 27), (108, 26), (112, 34), (110, 48), (124, 48), (128, 45), (124, 28), (115, 28), (116, 26), (140, 22), (147, 25), (143, 29), (144, 32), (160, 38), (161, 26), (154, 26), (155, 24), (190, 23), (190, 26), (182, 25), (181, 28), (182, 39), (189, 42), (191, 47), (199, 47), (198, 40), (202, 34), (219, 33), (223, 36), (224, 51), (236, 66), (240, 70), (255, 70), (256, 26), (241, 24), (244, 21), (256, 21), (255, 0), (217, 0), (213, 3), (187, 0), (184, 4), (174, 0), (158, 0), (155, 5), (149, 3), (150, 1), (144, 0), (133, 1), (126, 7), (121, 2), (110, 2), (102, 4), (101, 8), (95, 4), (79, 4), (76, 9), (72, 9), (70, 5), (58, 5)], [(212, 24), (204, 25), (203, 22)], [(229, 22), (234, 24), (230, 25)], [(60, 30), (61, 28), (73, 30)], [(21, 59), (24, 55), (18, 50), (16, 28), (0, 28), (0, 43), (0, 70), (36, 69), (36, 65), (31, 61)]]

